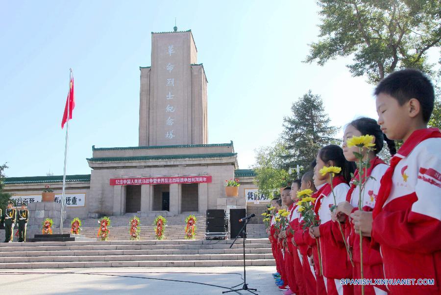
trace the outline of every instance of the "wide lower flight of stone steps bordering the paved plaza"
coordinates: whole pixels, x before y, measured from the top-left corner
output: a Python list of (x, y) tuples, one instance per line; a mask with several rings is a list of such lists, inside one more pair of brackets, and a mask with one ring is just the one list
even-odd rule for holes
[[(0, 243), (0, 268), (242, 266), (232, 240)], [(268, 238), (245, 241), (246, 265), (274, 265)]]

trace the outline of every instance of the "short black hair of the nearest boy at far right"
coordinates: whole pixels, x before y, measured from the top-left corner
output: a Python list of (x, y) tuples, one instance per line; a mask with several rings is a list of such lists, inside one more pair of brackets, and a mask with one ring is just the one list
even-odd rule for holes
[(385, 93), (398, 101), (402, 106), (412, 98), (421, 104), (424, 122), (429, 122), (435, 101), (435, 89), (430, 79), (421, 71), (406, 68), (395, 71), (378, 83), (374, 94)]

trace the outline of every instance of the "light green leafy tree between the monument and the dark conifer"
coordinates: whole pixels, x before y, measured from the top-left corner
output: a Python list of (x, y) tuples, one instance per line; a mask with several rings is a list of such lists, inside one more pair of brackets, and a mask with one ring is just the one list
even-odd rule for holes
[(288, 155), (288, 151), (281, 142), (277, 142), (274, 146), (261, 147), (255, 153), (254, 184), (259, 187), (259, 193), (272, 199), (290, 179), (287, 170), (283, 168), (283, 157)]

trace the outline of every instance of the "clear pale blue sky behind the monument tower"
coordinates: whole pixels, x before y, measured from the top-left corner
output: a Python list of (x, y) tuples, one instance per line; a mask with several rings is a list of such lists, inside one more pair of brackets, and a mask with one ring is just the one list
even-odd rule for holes
[(139, 66), (150, 65), (150, 32), (171, 31), (175, 17), (179, 30), (192, 30), (208, 78), (209, 143), (233, 140), (240, 168), (277, 139), (309, 89), (334, 125), (376, 118), (372, 86), (350, 76), (348, 59), (301, 63), (317, 40), (317, 13), (315, 1), (293, 0), (3, 1), (0, 164), (9, 177), (63, 174), (70, 67), (67, 173), (90, 173), (92, 145), (137, 146)]

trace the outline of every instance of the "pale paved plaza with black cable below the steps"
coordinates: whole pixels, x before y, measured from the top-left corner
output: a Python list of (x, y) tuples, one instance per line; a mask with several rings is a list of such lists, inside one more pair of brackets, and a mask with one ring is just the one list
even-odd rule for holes
[[(84, 268), (0, 270), (0, 280), (22, 295), (222, 294), (243, 285), (243, 268)], [(258, 294), (279, 294), (273, 266), (247, 267), (247, 283)], [(236, 288), (235, 288), (236, 289)], [(250, 294), (246, 291), (230, 294)]]

